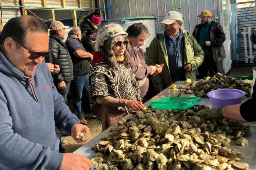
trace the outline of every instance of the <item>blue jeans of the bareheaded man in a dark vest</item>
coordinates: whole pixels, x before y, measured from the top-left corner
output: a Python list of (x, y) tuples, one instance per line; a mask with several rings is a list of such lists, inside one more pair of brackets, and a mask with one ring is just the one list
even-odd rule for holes
[(88, 75), (81, 75), (74, 77), (72, 82), (72, 104), (75, 110), (75, 115), (78, 118), (83, 116), (82, 110), (82, 95), (85, 96), (86, 100), (90, 102), (89, 96), (89, 77)]

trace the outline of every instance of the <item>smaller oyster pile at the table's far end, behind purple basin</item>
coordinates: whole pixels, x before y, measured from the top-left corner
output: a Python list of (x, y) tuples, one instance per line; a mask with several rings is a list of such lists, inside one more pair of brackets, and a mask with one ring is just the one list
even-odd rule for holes
[[(250, 83), (246, 83), (241, 79), (226, 76), (223, 73), (217, 73), (213, 77), (205, 77), (198, 82), (192, 82), (186, 86), (181, 86), (179, 89), (184, 94), (195, 94), (198, 97), (207, 97), (207, 93), (216, 89), (239, 89), (245, 92), (247, 97), (250, 97)], [(181, 95), (181, 94), (180, 94)]]

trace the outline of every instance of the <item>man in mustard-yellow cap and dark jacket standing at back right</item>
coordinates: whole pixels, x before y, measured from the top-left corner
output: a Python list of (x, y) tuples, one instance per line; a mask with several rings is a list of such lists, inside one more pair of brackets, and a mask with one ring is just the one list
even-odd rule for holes
[(210, 11), (204, 10), (198, 16), (201, 24), (195, 26), (193, 36), (205, 53), (203, 63), (198, 67), (200, 78), (204, 78), (208, 71), (211, 76), (218, 73), (218, 62), (226, 58), (223, 47), (226, 37), (220, 23), (211, 20)]

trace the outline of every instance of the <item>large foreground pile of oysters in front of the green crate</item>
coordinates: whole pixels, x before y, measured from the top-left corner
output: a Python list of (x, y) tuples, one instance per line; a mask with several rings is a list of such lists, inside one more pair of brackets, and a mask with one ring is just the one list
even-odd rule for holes
[(250, 127), (223, 119), (206, 121), (205, 106), (148, 110), (121, 119), (92, 149), (96, 170), (247, 170), (242, 153)]

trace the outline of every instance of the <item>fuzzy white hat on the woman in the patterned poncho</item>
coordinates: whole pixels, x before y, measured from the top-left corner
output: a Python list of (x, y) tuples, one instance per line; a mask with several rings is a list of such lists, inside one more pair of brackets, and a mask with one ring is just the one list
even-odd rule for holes
[(113, 38), (120, 35), (128, 35), (119, 24), (110, 23), (109, 25), (105, 25), (102, 29), (99, 30), (98, 36), (95, 40), (95, 48), (96, 51), (99, 51), (99, 47), (103, 46), (103, 42), (108, 40), (109, 38)]

